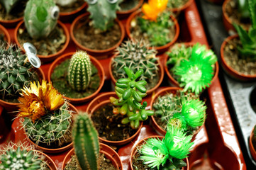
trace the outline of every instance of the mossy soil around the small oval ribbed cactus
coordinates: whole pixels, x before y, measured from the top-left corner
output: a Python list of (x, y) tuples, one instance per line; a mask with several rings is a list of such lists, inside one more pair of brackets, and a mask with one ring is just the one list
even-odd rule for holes
[(67, 68), (69, 67), (70, 59), (65, 60), (57, 67), (51, 75), (52, 86), (60, 92), (60, 94), (65, 94), (68, 98), (84, 98), (94, 94), (94, 92), (99, 88), (100, 77), (98, 70), (91, 64), (91, 81), (86, 91), (74, 91), (71, 86), (69, 86), (67, 81)]

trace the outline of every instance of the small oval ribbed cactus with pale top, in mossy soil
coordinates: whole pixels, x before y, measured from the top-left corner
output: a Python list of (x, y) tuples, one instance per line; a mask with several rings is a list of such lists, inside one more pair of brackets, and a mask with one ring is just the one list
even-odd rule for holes
[(87, 89), (91, 79), (91, 60), (87, 52), (79, 51), (72, 55), (67, 77), (72, 89), (76, 91)]

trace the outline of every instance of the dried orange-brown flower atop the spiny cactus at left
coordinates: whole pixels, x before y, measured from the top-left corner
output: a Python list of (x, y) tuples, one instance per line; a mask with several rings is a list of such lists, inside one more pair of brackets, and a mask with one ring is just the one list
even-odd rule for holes
[(38, 84), (30, 82), (30, 87), (25, 86), (22, 89), (18, 101), (20, 101), (18, 117), (30, 117), (33, 122), (43, 115), (57, 110), (65, 103), (62, 95), (45, 80), (41, 85), (39, 82)]

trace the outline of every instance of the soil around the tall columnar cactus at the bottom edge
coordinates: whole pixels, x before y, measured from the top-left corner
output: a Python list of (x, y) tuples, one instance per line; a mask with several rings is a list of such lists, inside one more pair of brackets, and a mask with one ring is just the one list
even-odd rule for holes
[[(107, 159), (103, 153), (99, 153), (99, 170), (105, 169), (116, 170), (111, 161)], [(75, 155), (72, 155), (70, 161), (65, 166), (65, 170), (82, 170)]]

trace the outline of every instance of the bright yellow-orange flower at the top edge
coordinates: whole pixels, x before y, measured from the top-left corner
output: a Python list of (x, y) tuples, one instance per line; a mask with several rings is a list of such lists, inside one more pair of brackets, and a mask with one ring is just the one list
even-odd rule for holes
[(157, 21), (159, 13), (165, 10), (168, 0), (149, 0), (148, 4), (144, 3), (142, 11), (144, 13), (143, 18), (150, 21)]

